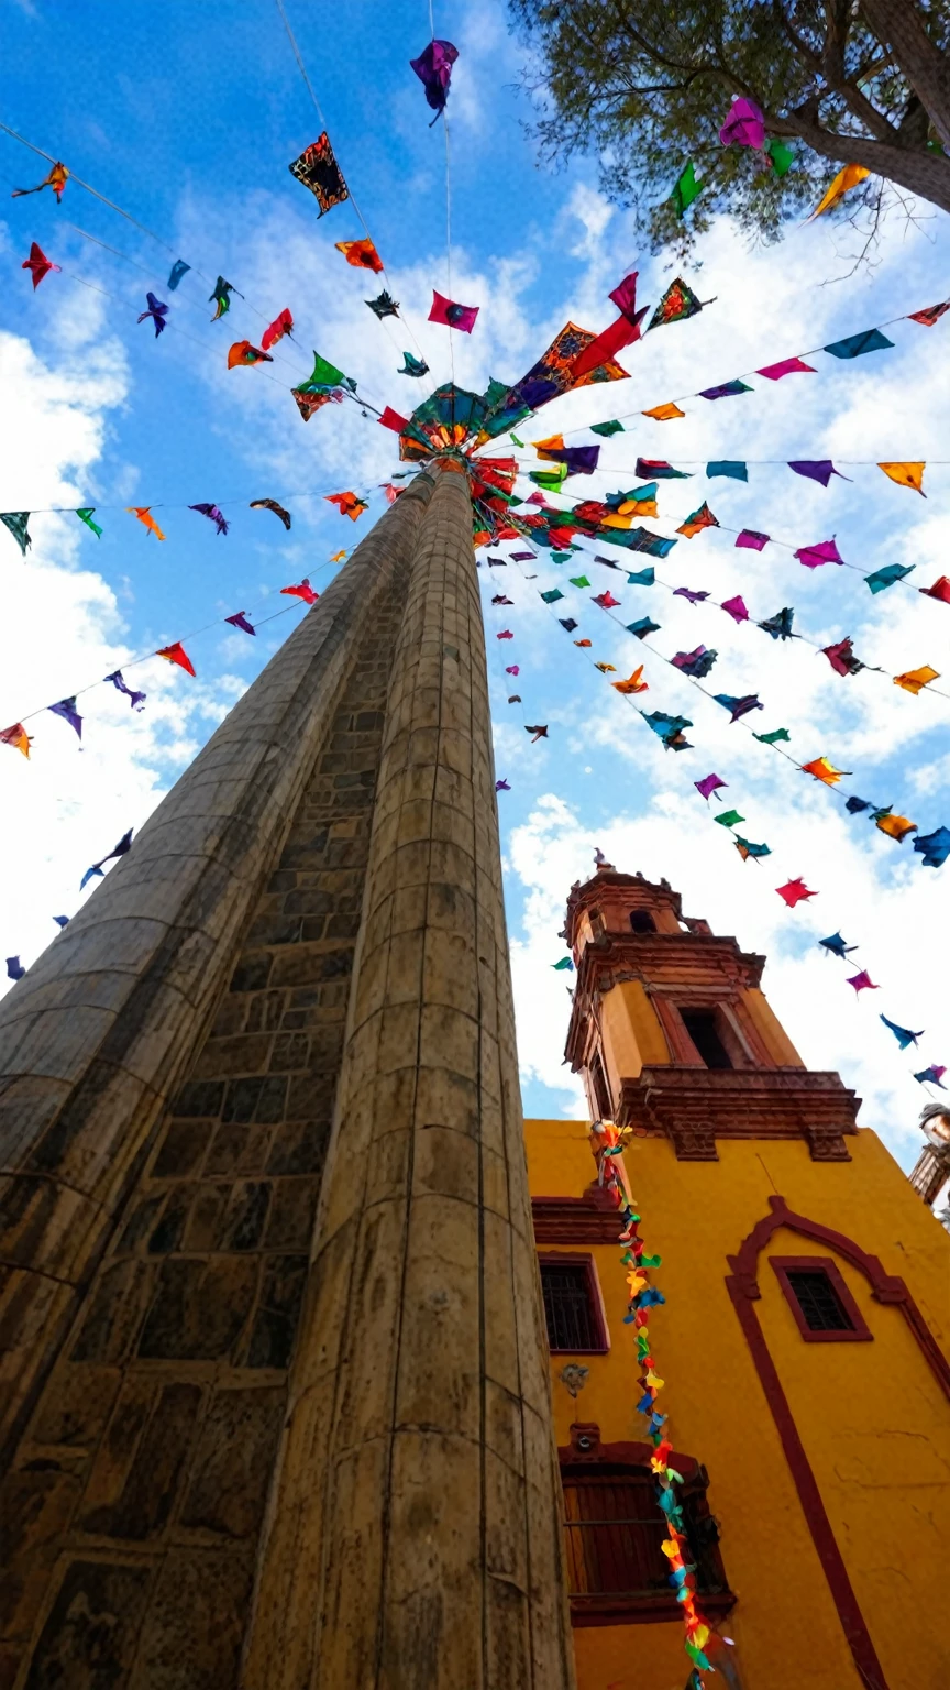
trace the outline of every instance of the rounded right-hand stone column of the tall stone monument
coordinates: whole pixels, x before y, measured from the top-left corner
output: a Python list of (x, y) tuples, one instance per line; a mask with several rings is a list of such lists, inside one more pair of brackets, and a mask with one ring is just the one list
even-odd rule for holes
[(412, 561), (245, 1690), (570, 1690), (483, 629), (461, 475)]

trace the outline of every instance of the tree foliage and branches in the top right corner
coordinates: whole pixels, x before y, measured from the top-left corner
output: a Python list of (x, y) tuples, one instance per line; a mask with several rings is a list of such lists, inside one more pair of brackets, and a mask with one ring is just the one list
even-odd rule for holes
[[(548, 161), (595, 150), (602, 186), (654, 248), (683, 250), (718, 211), (774, 238), (842, 164), (950, 210), (950, 0), (509, 0), (532, 49), (524, 83)], [(783, 177), (751, 147), (722, 147), (732, 98), (794, 150)], [(947, 152), (943, 150), (947, 147)], [(669, 199), (693, 161), (703, 193)]]

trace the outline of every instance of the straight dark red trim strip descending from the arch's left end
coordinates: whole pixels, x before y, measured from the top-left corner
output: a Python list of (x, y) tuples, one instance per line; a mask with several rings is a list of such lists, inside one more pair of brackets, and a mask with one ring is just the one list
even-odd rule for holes
[(789, 1401), (781, 1387), (776, 1364), (773, 1362), (769, 1345), (766, 1344), (764, 1332), (759, 1325), (759, 1315), (756, 1313), (749, 1291), (739, 1278), (727, 1276), (725, 1284), (735, 1306), (735, 1313), (739, 1315), (745, 1342), (752, 1352), (756, 1372), (759, 1374), (766, 1401), (771, 1408), (784, 1450), (784, 1458), (789, 1465), (794, 1489), (798, 1491), (801, 1513), (805, 1514), (811, 1541), (818, 1551), (818, 1560), (822, 1562), (822, 1570), (828, 1582), (832, 1600), (838, 1611), (838, 1619), (854, 1656), (854, 1665), (869, 1690), (887, 1690), (887, 1680), (881, 1670), (881, 1661), (874, 1651), (871, 1633), (867, 1631), (864, 1614), (860, 1612), (857, 1595), (854, 1594), (852, 1582), (847, 1575), (847, 1567), (842, 1560), (842, 1551), (838, 1550), (832, 1523), (825, 1513), (822, 1492), (818, 1491), (818, 1482), (811, 1472), (808, 1455), (805, 1453), (805, 1445), (798, 1436), (798, 1426), (794, 1425)]

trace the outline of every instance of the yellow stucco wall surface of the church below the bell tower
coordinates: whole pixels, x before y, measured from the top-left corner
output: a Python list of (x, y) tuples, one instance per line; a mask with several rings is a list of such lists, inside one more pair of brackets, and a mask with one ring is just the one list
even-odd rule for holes
[[(580, 1197), (593, 1176), (587, 1126), (526, 1122), (531, 1191)], [(676, 1450), (710, 1474), (710, 1507), (737, 1606), (744, 1690), (862, 1690), (798, 1492), (725, 1289), (735, 1254), (781, 1193), (791, 1210), (854, 1239), (899, 1274), (940, 1347), (950, 1347), (950, 1239), (874, 1132), (849, 1137), (850, 1163), (815, 1163), (800, 1141), (720, 1141), (718, 1163), (676, 1161), (666, 1139), (634, 1139), (625, 1161), (642, 1213), (661, 1408)], [(570, 1249), (570, 1246), (563, 1246)], [(642, 1438), (636, 1349), (620, 1249), (593, 1254), (610, 1352), (581, 1357), (590, 1377), (573, 1401), (553, 1357), (558, 1443), (573, 1420), (603, 1442)], [(551, 1246), (544, 1246), (551, 1249)], [(832, 1256), (874, 1333), (871, 1344), (806, 1344), (769, 1256)], [(950, 1415), (899, 1308), (876, 1303), (860, 1271), (827, 1246), (778, 1230), (759, 1257), (756, 1303), (838, 1548), (877, 1649), (887, 1690), (950, 1682), (942, 1568), (950, 1563)], [(683, 1690), (688, 1660), (676, 1624), (575, 1631), (578, 1690)], [(715, 1680), (712, 1680), (715, 1682)]]

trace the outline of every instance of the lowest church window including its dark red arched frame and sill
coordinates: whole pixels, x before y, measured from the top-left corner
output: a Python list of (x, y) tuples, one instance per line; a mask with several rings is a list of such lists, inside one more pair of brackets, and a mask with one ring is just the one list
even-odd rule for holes
[[(669, 1562), (661, 1548), (668, 1523), (656, 1501), (651, 1453), (649, 1443), (602, 1445), (593, 1425), (571, 1426), (571, 1447), (558, 1450), (575, 1626), (680, 1619)], [(683, 1474), (676, 1491), (703, 1612), (727, 1614), (735, 1599), (707, 1504), (707, 1472), (688, 1455), (669, 1460)]]

